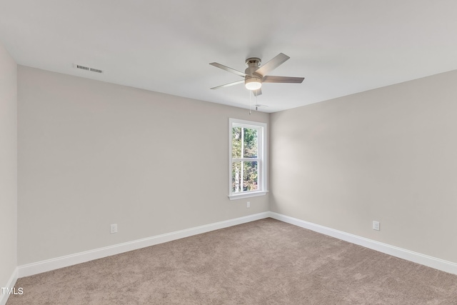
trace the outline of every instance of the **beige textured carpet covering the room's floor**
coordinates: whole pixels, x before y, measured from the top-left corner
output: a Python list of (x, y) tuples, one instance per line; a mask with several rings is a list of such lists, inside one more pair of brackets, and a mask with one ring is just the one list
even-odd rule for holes
[(457, 276), (273, 219), (21, 278), (14, 304), (457, 304)]

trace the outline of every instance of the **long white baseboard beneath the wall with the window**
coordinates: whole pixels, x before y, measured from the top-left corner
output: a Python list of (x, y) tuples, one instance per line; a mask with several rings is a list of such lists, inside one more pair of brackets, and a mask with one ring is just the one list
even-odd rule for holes
[[(180, 231), (174, 231), (167, 234), (161, 234), (157, 236), (147, 237), (146, 239), (137, 239), (135, 241), (128, 241), (123, 244), (116, 244), (113, 246), (106, 246), (104, 248), (94, 249), (90, 251), (79, 252), (76, 254), (70, 254), (66, 256), (56, 257), (55, 259), (47, 259), (46, 261), (38, 261), (32, 264), (26, 264), (18, 267), (17, 276), (31, 276), (34, 274), (40, 274), (42, 272), (51, 271), (66, 266), (72, 266), (81, 264), (86, 261), (94, 259), (101, 259), (106, 256), (115, 254), (121, 254), (126, 251), (132, 251), (141, 249), (146, 246), (154, 246), (156, 244), (162, 244), (167, 241), (174, 241), (176, 239), (182, 239), (184, 237), (193, 236), (196, 234), (202, 234), (209, 231), (224, 229), (229, 226), (236, 226), (237, 224), (244, 224), (250, 221), (256, 221), (259, 219), (268, 218), (269, 212), (263, 212), (248, 216), (239, 217), (236, 219), (229, 219), (226, 221), (219, 221), (213, 224), (206, 224), (204, 226), (196, 226), (190, 229), (184, 229)], [(17, 279), (16, 276), (16, 279)], [(3, 305), (0, 303), (0, 305)]]

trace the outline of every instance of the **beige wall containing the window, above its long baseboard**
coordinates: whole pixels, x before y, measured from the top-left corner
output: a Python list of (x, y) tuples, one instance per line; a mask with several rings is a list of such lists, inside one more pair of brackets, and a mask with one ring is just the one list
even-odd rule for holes
[(229, 118), (268, 114), (26, 66), (18, 103), (19, 265), (268, 211), (227, 173)]

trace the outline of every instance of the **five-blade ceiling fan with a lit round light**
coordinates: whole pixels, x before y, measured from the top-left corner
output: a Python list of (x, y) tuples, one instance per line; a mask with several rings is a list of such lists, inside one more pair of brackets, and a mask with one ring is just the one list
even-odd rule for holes
[(224, 66), (223, 64), (218, 64), (216, 62), (212, 62), (211, 66), (216, 66), (220, 69), (229, 71), (233, 74), (243, 77), (244, 79), (241, 81), (234, 81), (233, 83), (216, 86), (211, 89), (219, 89), (228, 86), (233, 86), (237, 84), (243, 84), (246, 86), (246, 89), (251, 90), (254, 96), (258, 96), (262, 94), (261, 86), (263, 83), (290, 83), (290, 84), (301, 84), (304, 77), (291, 77), (291, 76), (269, 76), (266, 75), (268, 72), (276, 69), (278, 66), (283, 64), (284, 61), (290, 59), (289, 56), (286, 54), (278, 54), (276, 55), (271, 61), (268, 61), (263, 66), (261, 65), (261, 59), (257, 57), (250, 57), (246, 59), (246, 70), (243, 72), (231, 69), (228, 66)]

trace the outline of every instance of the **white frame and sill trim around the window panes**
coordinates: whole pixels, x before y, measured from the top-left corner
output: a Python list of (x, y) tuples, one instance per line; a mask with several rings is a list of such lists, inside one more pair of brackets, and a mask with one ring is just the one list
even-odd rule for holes
[[(257, 169), (258, 169), (258, 181), (257, 186), (258, 189), (255, 191), (239, 191), (233, 192), (232, 191), (232, 164), (233, 164), (233, 156), (232, 156), (232, 129), (233, 127), (246, 127), (246, 128), (253, 128), (258, 129), (258, 159), (256, 161)], [(267, 154), (266, 148), (267, 146), (267, 131), (266, 131), (266, 123), (256, 122), (256, 121), (246, 121), (240, 119), (229, 119), (229, 199), (243, 199), (249, 198), (254, 196), (264, 196), (268, 192), (267, 190)], [(252, 159), (236, 159), (236, 161), (252, 161)]]

